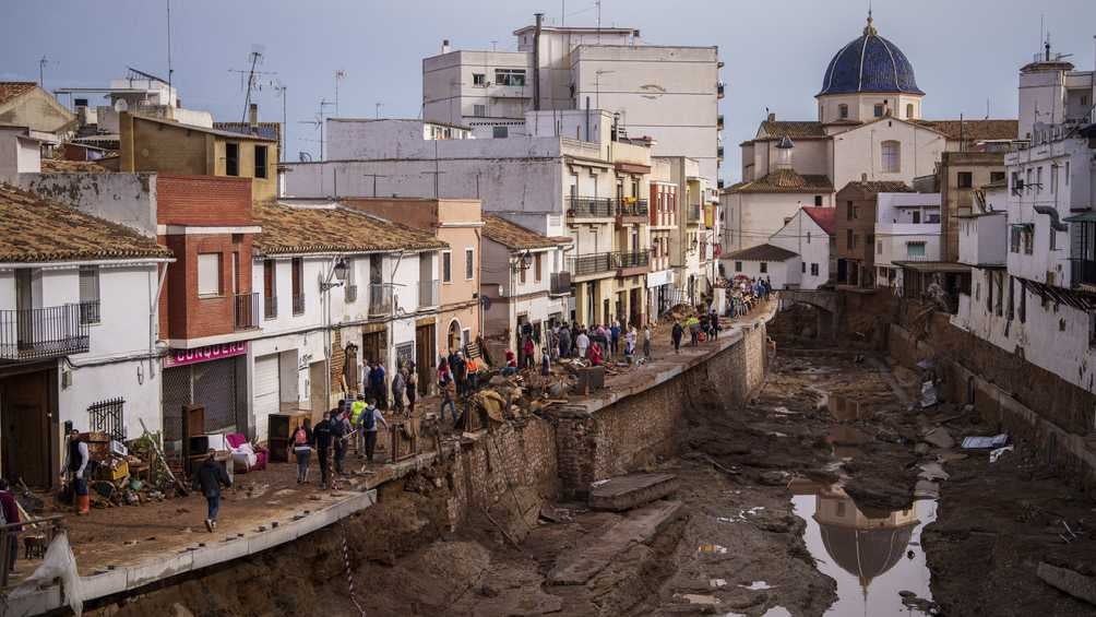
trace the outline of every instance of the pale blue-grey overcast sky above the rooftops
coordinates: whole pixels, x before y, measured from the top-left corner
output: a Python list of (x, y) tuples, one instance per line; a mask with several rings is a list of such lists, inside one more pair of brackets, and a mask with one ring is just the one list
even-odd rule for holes
[[(37, 80), (47, 89), (105, 85), (133, 66), (167, 75), (167, 0), (5, 2), (0, 80)], [(549, 23), (593, 25), (586, 0), (171, 0), (174, 84), (183, 106), (218, 121), (243, 115), (241, 79), (254, 45), (264, 46), (259, 93), (263, 119), (282, 119), (273, 79), (288, 90), (289, 158), (317, 151), (319, 135), (300, 124), (321, 99), (343, 116), (418, 117), (422, 58), (443, 38), (454, 48), (516, 46), (512, 32), (544, 11)], [(860, 35), (866, 0), (603, 0), (602, 24), (639, 28), (652, 44), (718, 45), (726, 62), (722, 101), (727, 159), (740, 176), (738, 144), (769, 107), (780, 118), (814, 119), (814, 94), (833, 55)], [(1016, 73), (1039, 50), (1044, 18), (1054, 48), (1093, 68), (1096, 0), (875, 0), (880, 35), (910, 58), (926, 92), (924, 116), (1016, 116)]]

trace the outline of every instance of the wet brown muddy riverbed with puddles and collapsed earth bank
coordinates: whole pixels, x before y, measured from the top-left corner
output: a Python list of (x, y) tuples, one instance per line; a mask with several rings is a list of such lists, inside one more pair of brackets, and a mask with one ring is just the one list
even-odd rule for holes
[[(581, 584), (558, 584), (555, 573), (576, 556), (607, 550), (607, 538), (633, 514), (550, 503), (515, 542), (476, 515), (456, 534), (431, 527), (422, 514), (430, 499), (402, 492), (383, 494), (347, 538), (377, 546), (402, 538), (388, 557), (373, 550), (356, 560), (361, 608), (477, 616), (1096, 613), (1036, 575), (1041, 562), (1092, 573), (1096, 512), (1026, 444), (993, 464), (986, 452), (941, 444), (941, 433), (957, 442), (996, 427), (947, 403), (914, 409), (918, 376), (882, 356), (781, 349), (772, 368), (741, 409), (706, 404), (716, 397), (696, 392), (680, 456), (650, 469), (680, 478), (667, 499), (682, 507), (642, 539), (613, 548)], [(256, 584), (272, 589), (261, 604), (238, 592), (235, 602), (217, 599), (229, 593), (229, 579), (239, 580), (222, 573), (107, 613), (359, 614), (336, 558), (341, 533), (301, 556), (300, 568), (282, 559), (266, 560), (270, 570), (256, 565)], [(196, 595), (209, 590), (221, 591)]]

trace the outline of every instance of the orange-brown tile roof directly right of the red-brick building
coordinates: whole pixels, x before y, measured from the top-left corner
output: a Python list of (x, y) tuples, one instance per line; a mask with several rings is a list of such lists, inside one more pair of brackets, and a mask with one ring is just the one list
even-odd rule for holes
[(255, 204), (254, 217), (263, 230), (253, 245), (267, 255), (448, 248), (433, 233), (350, 208)]

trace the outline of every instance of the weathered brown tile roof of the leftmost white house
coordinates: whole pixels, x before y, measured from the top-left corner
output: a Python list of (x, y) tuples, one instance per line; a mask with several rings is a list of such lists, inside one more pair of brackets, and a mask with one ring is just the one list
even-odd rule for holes
[(155, 239), (128, 227), (0, 184), (0, 262), (171, 256)]

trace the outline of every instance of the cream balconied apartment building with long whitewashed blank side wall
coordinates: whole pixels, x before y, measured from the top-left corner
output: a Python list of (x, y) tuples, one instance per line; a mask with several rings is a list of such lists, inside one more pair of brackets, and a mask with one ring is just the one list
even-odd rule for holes
[(572, 239), (569, 319), (646, 319), (649, 142), (621, 137), (602, 111), (530, 112), (525, 136), (498, 139), (436, 138), (432, 125), (332, 118), (329, 152), (338, 160), (285, 165), (286, 192), (478, 198), (484, 213)]

